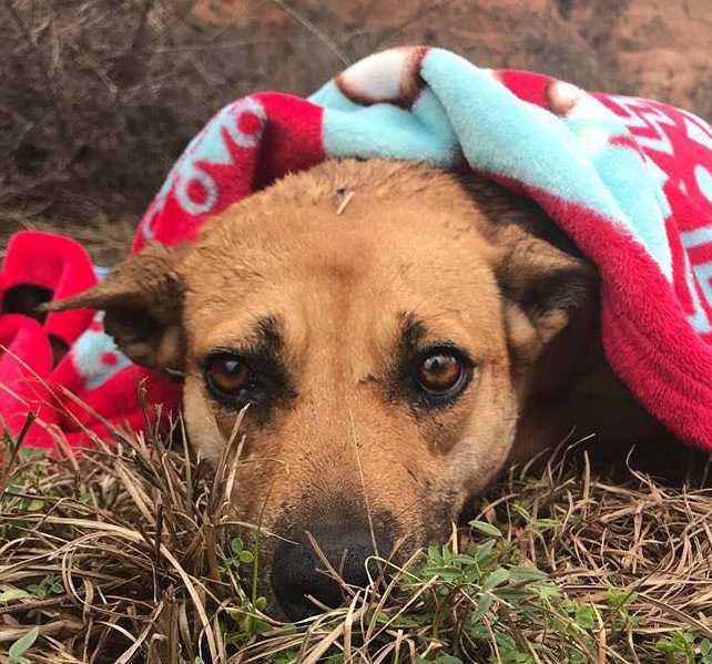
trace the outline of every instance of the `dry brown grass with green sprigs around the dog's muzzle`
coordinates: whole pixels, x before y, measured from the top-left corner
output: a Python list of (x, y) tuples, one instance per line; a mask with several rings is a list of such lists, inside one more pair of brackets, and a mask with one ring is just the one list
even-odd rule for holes
[(234, 539), (230, 464), (197, 461), (180, 422), (167, 440), (116, 431), (81, 459), (4, 464), (0, 653), (37, 626), (29, 662), (704, 661), (706, 489), (634, 472), (613, 483), (560, 450), (512, 470), (475, 528), (386, 588), (286, 625), (237, 579), (252, 552)]

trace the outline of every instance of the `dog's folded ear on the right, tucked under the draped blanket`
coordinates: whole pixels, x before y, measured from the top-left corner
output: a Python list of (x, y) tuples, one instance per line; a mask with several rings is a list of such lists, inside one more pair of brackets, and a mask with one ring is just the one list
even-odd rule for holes
[(508, 343), (515, 368), (522, 371), (533, 367), (576, 318), (591, 311), (597, 274), (583, 259), (518, 224), (501, 227), (496, 244)]

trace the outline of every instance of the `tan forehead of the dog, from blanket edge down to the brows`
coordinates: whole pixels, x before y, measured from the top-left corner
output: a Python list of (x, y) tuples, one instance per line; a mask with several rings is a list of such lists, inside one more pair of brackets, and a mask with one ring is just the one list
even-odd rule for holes
[(311, 184), (264, 192), (205, 228), (184, 265), (187, 331), (200, 349), (247, 337), (265, 318), (293, 347), (334, 330), (342, 344), (387, 345), (408, 313), (440, 336), (492, 328), (492, 249), (466, 201), (445, 206), (427, 187), (373, 196), (360, 187), (346, 200)]

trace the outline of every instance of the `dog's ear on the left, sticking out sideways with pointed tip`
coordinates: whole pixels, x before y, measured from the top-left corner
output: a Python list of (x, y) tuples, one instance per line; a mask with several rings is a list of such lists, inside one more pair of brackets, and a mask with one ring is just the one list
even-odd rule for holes
[(161, 370), (181, 370), (183, 353), (184, 251), (149, 245), (113, 269), (94, 288), (68, 299), (45, 303), (42, 311), (91, 308), (105, 311), (104, 329), (134, 362)]

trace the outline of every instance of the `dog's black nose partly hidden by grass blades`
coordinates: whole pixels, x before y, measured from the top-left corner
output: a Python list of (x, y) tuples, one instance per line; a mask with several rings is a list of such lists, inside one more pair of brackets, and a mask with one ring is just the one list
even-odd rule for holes
[[(362, 528), (348, 529), (346, 524), (312, 533), (322, 553), (349, 585), (367, 585), (366, 565), (374, 550), (374, 535)], [(279, 606), (289, 620), (302, 620), (318, 611), (309, 601), (314, 597), (322, 604), (339, 606), (345, 594), (342, 584), (326, 572), (326, 565), (314, 550), (306, 534), (295, 543), (282, 542), (275, 551), (272, 568), (272, 588)], [(387, 558), (390, 548), (387, 539), (378, 537), (378, 554)], [(368, 563), (372, 576), (377, 575), (376, 561)]]

